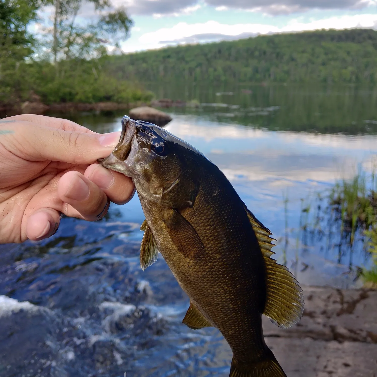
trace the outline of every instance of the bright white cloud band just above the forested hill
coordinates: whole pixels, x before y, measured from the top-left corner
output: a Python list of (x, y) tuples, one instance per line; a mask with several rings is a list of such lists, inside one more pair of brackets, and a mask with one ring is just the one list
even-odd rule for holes
[[(162, 28), (153, 32), (148, 32), (138, 40), (136, 49), (156, 49), (169, 44), (187, 43), (202, 40), (224, 40), (236, 39), (235, 37), (245, 37), (257, 34), (275, 34), (284, 32), (299, 32), (316, 29), (349, 29), (349, 28), (376, 28), (377, 14), (342, 15), (321, 20), (310, 20), (303, 22), (301, 18), (294, 18), (288, 21), (287, 25), (277, 27), (272, 24), (245, 23), (227, 25), (218, 21), (207, 21), (205, 23), (189, 24), (179, 22), (171, 28)], [(216, 36), (216, 34), (218, 34)], [(209, 38), (208, 36), (212, 36)], [(205, 38), (204, 38), (205, 37)], [(216, 38), (215, 38), (216, 37)], [(234, 37), (234, 38), (230, 38)], [(125, 44), (125, 51), (135, 51), (130, 44)]]

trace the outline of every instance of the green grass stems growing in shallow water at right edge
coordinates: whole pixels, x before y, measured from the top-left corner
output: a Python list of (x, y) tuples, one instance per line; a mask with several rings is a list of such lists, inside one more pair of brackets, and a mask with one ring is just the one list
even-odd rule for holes
[[(285, 213), (288, 198), (284, 199)], [(287, 215), (285, 215), (287, 219)], [(287, 220), (286, 220), (287, 221)], [(287, 224), (285, 226), (287, 233)], [(360, 165), (351, 179), (340, 179), (325, 193), (309, 194), (300, 199), (299, 224), (296, 234), (296, 268), (302, 252), (317, 242), (325, 257), (337, 251), (337, 262), (344, 264), (349, 256), (349, 272), (360, 275), (365, 284), (375, 284), (377, 277), (377, 159), (367, 173)], [(354, 253), (363, 253), (365, 261), (371, 256), (370, 271), (353, 265)], [(369, 259), (370, 260), (370, 259)], [(369, 286), (368, 285), (368, 286)]]

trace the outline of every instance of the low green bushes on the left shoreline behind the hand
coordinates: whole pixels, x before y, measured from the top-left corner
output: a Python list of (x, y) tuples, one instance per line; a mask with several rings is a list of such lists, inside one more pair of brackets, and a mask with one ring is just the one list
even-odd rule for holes
[(153, 94), (135, 80), (117, 80), (109, 75), (98, 60), (69, 59), (57, 65), (48, 61), (23, 61), (12, 67), (12, 73), (4, 75), (0, 83), (3, 84), (0, 104), (29, 100), (30, 90), (40, 95), (45, 104), (103, 101), (129, 104), (153, 98)]

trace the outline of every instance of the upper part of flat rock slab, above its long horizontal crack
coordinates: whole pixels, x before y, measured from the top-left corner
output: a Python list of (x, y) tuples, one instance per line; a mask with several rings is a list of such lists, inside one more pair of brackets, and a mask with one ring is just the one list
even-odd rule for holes
[(300, 322), (284, 330), (264, 317), (265, 336), (377, 343), (377, 291), (306, 287), (303, 293)]

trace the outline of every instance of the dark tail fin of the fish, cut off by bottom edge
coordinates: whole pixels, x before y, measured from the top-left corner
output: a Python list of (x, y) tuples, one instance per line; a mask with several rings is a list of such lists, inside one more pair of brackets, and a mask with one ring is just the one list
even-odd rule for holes
[(250, 364), (238, 364), (233, 357), (229, 377), (287, 377), (271, 351), (270, 353), (265, 359)]

